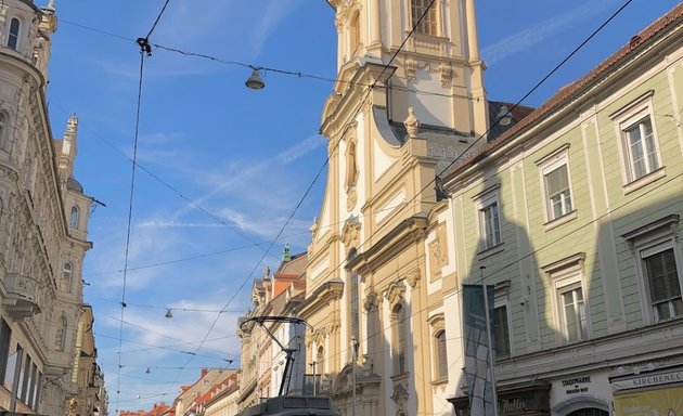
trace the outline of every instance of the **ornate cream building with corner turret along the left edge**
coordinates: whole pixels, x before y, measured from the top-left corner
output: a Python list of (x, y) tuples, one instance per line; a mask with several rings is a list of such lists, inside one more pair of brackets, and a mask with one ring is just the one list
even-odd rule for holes
[(47, 110), (52, 1), (0, 4), (0, 408), (63, 415), (82, 303), (91, 198), (73, 178), (76, 117)]

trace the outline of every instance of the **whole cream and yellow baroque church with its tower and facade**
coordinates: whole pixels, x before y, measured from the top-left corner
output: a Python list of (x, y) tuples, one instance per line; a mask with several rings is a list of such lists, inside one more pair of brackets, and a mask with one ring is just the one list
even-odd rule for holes
[(435, 178), (488, 128), (474, 0), (327, 2), (338, 75), (299, 310), (307, 362), (343, 414), (450, 415), (443, 314), (427, 315), (456, 287)]

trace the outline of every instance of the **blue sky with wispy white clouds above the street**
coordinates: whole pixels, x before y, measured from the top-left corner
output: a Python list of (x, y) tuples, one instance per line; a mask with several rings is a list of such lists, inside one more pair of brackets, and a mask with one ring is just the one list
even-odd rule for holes
[[(266, 88), (250, 91), (244, 87), (250, 70), (241, 65), (153, 50), (144, 63), (142, 169), (119, 337), (140, 70), (133, 40), (147, 34), (163, 3), (56, 1), (48, 91), (52, 130), (61, 136), (68, 116), (78, 115), (76, 178), (106, 204), (90, 218), (94, 248), (83, 278), (112, 414), (117, 386), (120, 410), (149, 408), (171, 402), (202, 366), (239, 361), (235, 321), (249, 308), (252, 280), (266, 265), (276, 268), (285, 242), (293, 252), (306, 250), (326, 174), (259, 263), (323, 166), (326, 145), (318, 129), (332, 82), (266, 73)], [(516, 102), (623, 1), (524, 0), (514, 9), (500, 0), (476, 3), (488, 96)], [(675, 4), (633, 0), (524, 104), (541, 104)], [(334, 13), (324, 0), (171, 0), (150, 41), (225, 62), (336, 75)], [(225, 304), (210, 333), (217, 312), (182, 310), (219, 311)], [(171, 320), (164, 317), (166, 308), (175, 309)], [(205, 337), (204, 348), (189, 354)]]

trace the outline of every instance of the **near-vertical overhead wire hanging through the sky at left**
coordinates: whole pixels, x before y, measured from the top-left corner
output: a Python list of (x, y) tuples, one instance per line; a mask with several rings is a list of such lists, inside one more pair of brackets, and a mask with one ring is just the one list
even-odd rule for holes
[(134, 200), (134, 191), (136, 191), (136, 167), (138, 161), (138, 143), (140, 139), (140, 108), (142, 106), (142, 81), (144, 79), (144, 60), (145, 55), (149, 57), (152, 55), (152, 51), (150, 48), (149, 39), (152, 36), (152, 32), (156, 28), (156, 25), (159, 23), (162, 15), (166, 11), (166, 6), (168, 5), (170, 0), (166, 0), (164, 2), (164, 6), (162, 11), (157, 15), (152, 28), (147, 32), (147, 36), (144, 38), (140, 38), (137, 40), (137, 43), (140, 46), (140, 74), (138, 80), (138, 102), (136, 106), (136, 132), (133, 138), (133, 156), (131, 164), (131, 173), (130, 173), (130, 194), (129, 194), (129, 203), (128, 203), (128, 224), (126, 227), (126, 252), (124, 256), (124, 276), (123, 276), (123, 287), (121, 287), (121, 312), (120, 312), (120, 324), (119, 324), (119, 340), (118, 340), (118, 373), (116, 379), (116, 412), (119, 412), (118, 402), (120, 396), (120, 372), (121, 372), (121, 347), (124, 339), (124, 317), (126, 311), (126, 280), (128, 277), (128, 259), (130, 253), (130, 230), (132, 225), (132, 211), (133, 211), (133, 200)]

